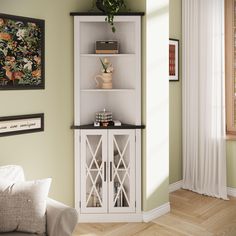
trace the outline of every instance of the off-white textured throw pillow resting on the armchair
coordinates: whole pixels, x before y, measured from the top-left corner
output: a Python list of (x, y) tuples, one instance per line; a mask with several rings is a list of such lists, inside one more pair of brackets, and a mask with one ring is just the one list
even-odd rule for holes
[(13, 183), (0, 179), (0, 232), (46, 232), (51, 179)]

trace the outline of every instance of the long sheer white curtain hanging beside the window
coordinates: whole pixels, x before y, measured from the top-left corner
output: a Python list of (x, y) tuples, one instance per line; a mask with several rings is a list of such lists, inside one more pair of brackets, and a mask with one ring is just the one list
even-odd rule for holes
[(183, 0), (183, 187), (227, 199), (224, 0)]

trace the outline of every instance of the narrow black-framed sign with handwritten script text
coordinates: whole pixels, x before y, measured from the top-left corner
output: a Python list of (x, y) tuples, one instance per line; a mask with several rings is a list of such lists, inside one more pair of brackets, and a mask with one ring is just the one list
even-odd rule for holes
[(44, 131), (44, 114), (0, 117), (0, 137)]

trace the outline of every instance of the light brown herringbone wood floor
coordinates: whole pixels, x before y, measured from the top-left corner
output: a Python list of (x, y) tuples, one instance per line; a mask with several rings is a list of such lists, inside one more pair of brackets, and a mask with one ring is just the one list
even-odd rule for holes
[(78, 224), (73, 236), (236, 236), (236, 198), (186, 190), (170, 194), (171, 212), (150, 223)]

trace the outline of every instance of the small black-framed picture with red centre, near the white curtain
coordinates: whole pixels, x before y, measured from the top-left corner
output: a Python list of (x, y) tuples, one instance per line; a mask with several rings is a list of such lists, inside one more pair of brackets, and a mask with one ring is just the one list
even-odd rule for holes
[(169, 81), (179, 81), (179, 40), (169, 40)]

